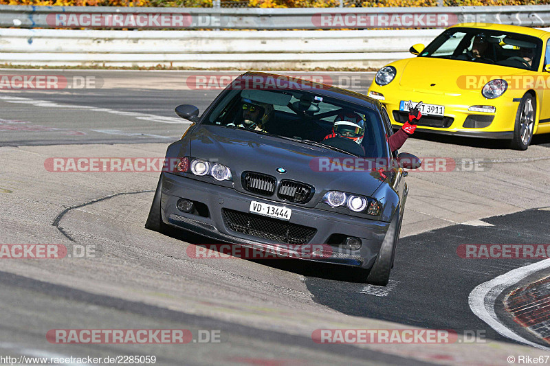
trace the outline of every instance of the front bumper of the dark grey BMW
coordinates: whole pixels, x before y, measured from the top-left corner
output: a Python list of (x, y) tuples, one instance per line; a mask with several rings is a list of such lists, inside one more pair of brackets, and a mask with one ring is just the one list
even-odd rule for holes
[[(250, 202), (257, 201), (272, 205), (285, 206), (292, 209), (291, 219), (287, 221), (276, 220), (277, 227), (284, 225), (300, 225), (314, 229), (313, 236), (304, 244), (325, 244), (333, 234), (353, 236), (362, 241), (361, 249), (350, 251), (343, 249), (338, 244), (331, 245), (330, 253), (322, 253), (316, 258), (304, 258), (318, 262), (343, 264), (371, 268), (375, 262), (380, 246), (390, 226), (389, 222), (369, 220), (354, 216), (347, 216), (323, 209), (301, 207), (290, 203), (271, 201), (261, 196), (237, 192), (232, 187), (223, 187), (189, 179), (176, 174), (162, 173), (161, 213), (162, 220), (168, 225), (183, 228), (202, 236), (221, 242), (232, 242), (243, 246), (284, 248), (285, 242), (269, 240), (268, 236), (250, 235), (242, 231), (235, 231), (228, 225), (227, 212), (230, 210), (237, 215), (246, 217), (259, 217), (250, 214)], [(208, 207), (208, 214), (184, 213), (177, 209), (176, 203), (180, 198), (185, 198)], [(256, 221), (256, 220), (254, 220)], [(261, 220), (260, 220), (261, 221)], [(263, 231), (262, 227), (252, 228), (252, 232)], [(393, 239), (393, 238), (392, 238)], [(212, 244), (215, 244), (214, 242)], [(295, 246), (294, 246), (295, 247)]]

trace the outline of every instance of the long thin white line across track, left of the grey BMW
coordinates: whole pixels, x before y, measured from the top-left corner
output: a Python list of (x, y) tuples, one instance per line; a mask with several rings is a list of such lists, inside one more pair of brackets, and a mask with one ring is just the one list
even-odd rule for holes
[(131, 116), (131, 117), (135, 117), (135, 119), (143, 119), (145, 121), (159, 122), (164, 124), (191, 124), (191, 122), (186, 121), (185, 119), (179, 118), (179, 117), (164, 117), (162, 115), (150, 115), (147, 113), (115, 111), (114, 109), (96, 108), (93, 106), (58, 104), (56, 102), (50, 102), (48, 100), (36, 100), (31, 98), (12, 97), (10, 95), (0, 95), (0, 100), (3, 100), (4, 102), (7, 102), (7, 103), (32, 104), (33, 106), (43, 106), (47, 108), (87, 109), (89, 111), (94, 111), (94, 112), (105, 112), (105, 113), (111, 113), (113, 115)]

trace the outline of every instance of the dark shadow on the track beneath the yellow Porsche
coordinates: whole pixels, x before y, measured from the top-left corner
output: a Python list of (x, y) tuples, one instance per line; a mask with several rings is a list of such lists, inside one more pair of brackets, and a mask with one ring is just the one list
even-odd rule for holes
[[(509, 149), (509, 141), (501, 139), (480, 139), (475, 137), (458, 137), (449, 135), (437, 135), (434, 133), (422, 133), (416, 132), (414, 139), (440, 142), (441, 144), (452, 144), (460, 146), (470, 146), (472, 148), (486, 148), (486, 149)], [(550, 148), (550, 134), (533, 136), (531, 146), (544, 146)]]

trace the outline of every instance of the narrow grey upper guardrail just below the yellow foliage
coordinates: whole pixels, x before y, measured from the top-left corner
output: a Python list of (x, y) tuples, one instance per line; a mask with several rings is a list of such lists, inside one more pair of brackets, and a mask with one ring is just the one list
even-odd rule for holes
[(548, 27), (550, 5), (289, 9), (0, 5), (0, 27), (21, 28), (426, 29), (466, 22)]

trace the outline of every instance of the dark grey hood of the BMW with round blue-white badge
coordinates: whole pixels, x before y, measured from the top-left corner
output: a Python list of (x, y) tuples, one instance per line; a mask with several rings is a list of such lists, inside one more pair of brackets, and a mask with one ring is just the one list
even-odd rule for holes
[(316, 196), (311, 205), (327, 190), (372, 196), (382, 184), (378, 172), (344, 172), (340, 165), (328, 163), (329, 159), (348, 159), (351, 166), (353, 156), (298, 141), (222, 126), (197, 126), (189, 139), (190, 155), (228, 166), (234, 187), (241, 192), (241, 174), (246, 171), (314, 186)]

